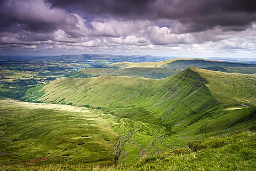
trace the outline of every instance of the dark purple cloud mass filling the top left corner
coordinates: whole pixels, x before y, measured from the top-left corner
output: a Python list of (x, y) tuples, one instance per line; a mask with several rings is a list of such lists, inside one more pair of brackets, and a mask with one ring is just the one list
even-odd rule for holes
[(3, 0), (0, 4), (0, 31), (27, 30), (49, 32), (75, 27), (76, 18), (65, 10), (50, 10), (40, 0)]

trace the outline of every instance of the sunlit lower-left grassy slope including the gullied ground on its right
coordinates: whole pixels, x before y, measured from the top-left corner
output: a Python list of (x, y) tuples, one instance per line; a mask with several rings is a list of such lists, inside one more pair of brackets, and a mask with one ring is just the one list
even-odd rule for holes
[(173, 148), (164, 127), (71, 105), (1, 100), (0, 121), (0, 164), (130, 165)]

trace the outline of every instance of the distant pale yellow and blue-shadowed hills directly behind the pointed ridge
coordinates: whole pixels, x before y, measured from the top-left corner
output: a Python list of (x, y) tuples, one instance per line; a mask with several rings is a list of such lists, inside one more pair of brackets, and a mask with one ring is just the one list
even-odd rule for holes
[(160, 62), (116, 62), (111, 68), (86, 68), (73, 77), (87, 78), (97, 76), (135, 76), (145, 78), (165, 78), (177, 74), (183, 69), (194, 67), (213, 71), (256, 73), (256, 64), (237, 63), (207, 59), (171, 59)]

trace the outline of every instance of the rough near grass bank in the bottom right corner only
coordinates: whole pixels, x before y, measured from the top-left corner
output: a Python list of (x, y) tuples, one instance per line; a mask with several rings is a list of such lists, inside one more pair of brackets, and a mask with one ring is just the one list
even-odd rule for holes
[(190, 143), (190, 150), (174, 150), (146, 158), (134, 170), (255, 170), (255, 132), (214, 137)]

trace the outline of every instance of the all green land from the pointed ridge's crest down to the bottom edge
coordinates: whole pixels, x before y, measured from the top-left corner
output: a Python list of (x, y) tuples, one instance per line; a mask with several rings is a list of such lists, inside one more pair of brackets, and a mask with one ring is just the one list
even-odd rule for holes
[(198, 68), (57, 79), (0, 101), (0, 169), (254, 170), (255, 89)]

